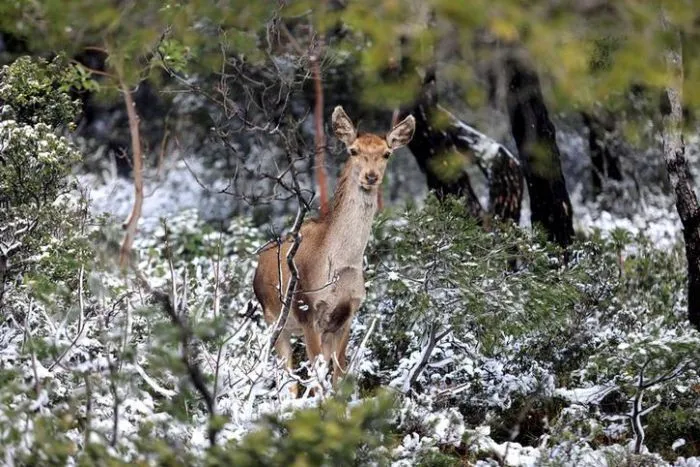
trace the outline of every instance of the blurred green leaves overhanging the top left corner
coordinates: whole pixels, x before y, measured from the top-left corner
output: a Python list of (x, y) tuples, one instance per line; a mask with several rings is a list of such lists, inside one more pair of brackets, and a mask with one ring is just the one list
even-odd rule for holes
[(176, 72), (187, 65), (218, 70), (220, 46), (226, 42), (219, 42), (220, 34), (235, 37), (246, 51), (257, 52), (255, 33), (276, 5), (237, 1), (223, 6), (211, 0), (125, 5), (110, 0), (3, 2), (0, 29), (25, 40), (34, 52), (62, 51), (69, 56), (86, 48), (104, 52), (109, 88), (119, 86), (120, 80), (157, 82), (163, 64)]

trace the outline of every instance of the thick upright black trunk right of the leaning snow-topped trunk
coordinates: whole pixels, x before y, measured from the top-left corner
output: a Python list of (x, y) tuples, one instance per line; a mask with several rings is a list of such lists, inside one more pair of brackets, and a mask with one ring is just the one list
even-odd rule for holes
[(506, 72), (508, 115), (530, 194), (532, 224), (566, 248), (574, 235), (571, 201), (539, 78), (515, 57), (506, 60)]

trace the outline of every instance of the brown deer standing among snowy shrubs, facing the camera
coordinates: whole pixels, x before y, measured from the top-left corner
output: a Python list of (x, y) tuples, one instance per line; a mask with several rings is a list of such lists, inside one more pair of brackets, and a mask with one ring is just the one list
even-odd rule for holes
[[(416, 121), (408, 115), (385, 137), (358, 134), (342, 106), (337, 106), (331, 122), (349, 157), (337, 179), (331, 209), (306, 220), (299, 229), (301, 242), (294, 255), (297, 289), (275, 350), (291, 372), (291, 337), (301, 335), (309, 362), (314, 364), (320, 357), (329, 368), (333, 363), (331, 382), (336, 388), (347, 369), (352, 319), (366, 296), (363, 258), (377, 212), (379, 187), (390, 156), (411, 141)], [(268, 326), (273, 326), (282, 312), (282, 290), (291, 276), (285, 258), (292, 244), (293, 239), (287, 236), (258, 253), (253, 290)], [(297, 394), (296, 385), (291, 392)]]

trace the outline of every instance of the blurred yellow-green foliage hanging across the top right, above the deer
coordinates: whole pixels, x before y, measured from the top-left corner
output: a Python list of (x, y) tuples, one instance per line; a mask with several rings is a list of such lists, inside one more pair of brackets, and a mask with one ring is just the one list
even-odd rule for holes
[[(632, 86), (658, 91), (667, 85), (665, 53), (676, 31), (684, 37), (684, 100), (697, 108), (697, 8), (697, 1), (625, 0), (587, 8), (520, 0), (355, 0), (335, 11), (310, 1), (290, 2), (283, 13), (298, 17), (308, 10), (323, 29), (336, 22), (348, 28), (333, 52), (357, 61), (368, 105), (392, 108), (412, 100), (419, 84), (416, 68), (435, 60), (441, 60), (441, 75), (464, 85), (465, 99), (474, 103), (475, 96), (484, 95), (475, 70), (504, 50), (519, 48), (542, 74), (554, 106), (570, 110), (609, 106)], [(441, 42), (449, 44), (449, 55), (438, 46)], [(387, 79), (386, 71), (400, 60), (410, 64), (403, 77)]]

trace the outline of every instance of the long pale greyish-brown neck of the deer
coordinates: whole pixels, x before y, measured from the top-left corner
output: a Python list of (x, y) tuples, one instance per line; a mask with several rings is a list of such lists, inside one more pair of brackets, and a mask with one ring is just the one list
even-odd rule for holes
[(347, 164), (338, 178), (326, 231), (325, 247), (331, 267), (362, 267), (376, 212), (377, 193), (363, 190), (359, 170)]

